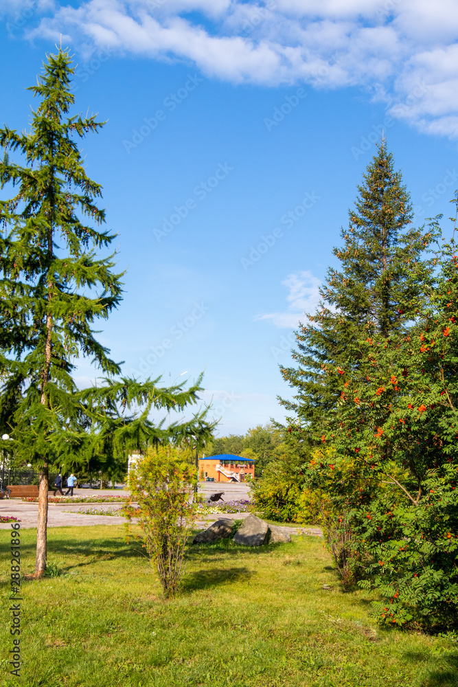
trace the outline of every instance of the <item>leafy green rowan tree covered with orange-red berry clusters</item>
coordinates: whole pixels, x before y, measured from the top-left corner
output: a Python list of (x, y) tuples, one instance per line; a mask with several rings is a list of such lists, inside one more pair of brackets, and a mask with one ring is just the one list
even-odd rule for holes
[(439, 246), (435, 260), (435, 283), (426, 286), (424, 302), (404, 330), (367, 337), (359, 342), (356, 370), (334, 369), (342, 389), (339, 425), (323, 435), (327, 450), (317, 451), (305, 472), (309, 485), (321, 491), (325, 486), (334, 541), (345, 535), (345, 558), (367, 574), (360, 585), (378, 592), (373, 605), (379, 622), (453, 627), (458, 609), (455, 241)]

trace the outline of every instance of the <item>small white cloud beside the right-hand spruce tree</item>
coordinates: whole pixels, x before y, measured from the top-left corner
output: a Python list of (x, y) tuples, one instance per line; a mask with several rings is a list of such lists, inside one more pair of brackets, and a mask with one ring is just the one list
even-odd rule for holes
[(321, 282), (311, 272), (289, 274), (282, 282), (288, 289), (286, 296), (288, 307), (284, 313), (266, 313), (257, 315), (255, 319), (266, 319), (277, 327), (297, 328), (303, 321), (304, 313), (313, 313), (319, 304), (319, 287)]

